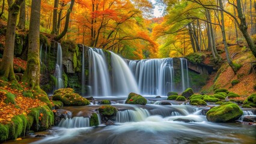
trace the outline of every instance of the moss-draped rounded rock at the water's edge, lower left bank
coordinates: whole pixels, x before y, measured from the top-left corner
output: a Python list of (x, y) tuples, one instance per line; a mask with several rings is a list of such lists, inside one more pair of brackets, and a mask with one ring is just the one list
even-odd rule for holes
[(53, 125), (54, 115), (48, 106), (35, 107), (30, 109), (28, 114), (28, 125), (34, 131), (42, 131)]

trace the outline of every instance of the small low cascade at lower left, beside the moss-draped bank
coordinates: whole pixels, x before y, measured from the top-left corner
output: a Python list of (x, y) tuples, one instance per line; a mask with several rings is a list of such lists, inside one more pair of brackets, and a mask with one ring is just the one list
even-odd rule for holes
[(90, 127), (90, 118), (75, 116), (73, 118), (61, 119), (61, 121), (58, 124), (58, 127), (64, 127), (64, 128)]

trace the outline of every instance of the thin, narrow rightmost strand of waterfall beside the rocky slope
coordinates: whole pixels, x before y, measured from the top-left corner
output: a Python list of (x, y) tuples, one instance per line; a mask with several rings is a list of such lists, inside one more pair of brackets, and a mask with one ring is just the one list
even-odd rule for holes
[(187, 70), (187, 59), (180, 58), (180, 67), (181, 67), (182, 91), (185, 91), (186, 88), (189, 88), (189, 73)]

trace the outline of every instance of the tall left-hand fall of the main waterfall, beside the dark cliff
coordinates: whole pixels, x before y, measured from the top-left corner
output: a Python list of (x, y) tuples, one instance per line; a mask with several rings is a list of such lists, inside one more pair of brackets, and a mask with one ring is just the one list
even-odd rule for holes
[(102, 49), (89, 49), (89, 85), (94, 96), (111, 95), (108, 66)]

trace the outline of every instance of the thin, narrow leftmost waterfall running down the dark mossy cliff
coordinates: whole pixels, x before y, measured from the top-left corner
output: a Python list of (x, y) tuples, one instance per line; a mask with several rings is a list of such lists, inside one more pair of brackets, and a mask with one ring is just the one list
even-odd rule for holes
[(57, 79), (55, 89), (64, 88), (64, 83), (63, 83), (63, 79), (62, 79), (62, 50), (61, 50), (61, 44), (60, 43), (58, 43), (57, 62), (56, 62), (55, 74), (54, 75)]

